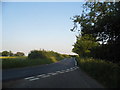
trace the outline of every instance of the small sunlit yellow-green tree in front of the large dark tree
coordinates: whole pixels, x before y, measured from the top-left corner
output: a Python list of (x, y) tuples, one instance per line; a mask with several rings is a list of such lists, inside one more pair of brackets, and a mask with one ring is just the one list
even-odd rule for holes
[(99, 44), (95, 42), (95, 38), (92, 35), (85, 34), (84, 36), (77, 37), (76, 43), (73, 45), (73, 52), (77, 53), (81, 57), (90, 56), (93, 47), (97, 47)]

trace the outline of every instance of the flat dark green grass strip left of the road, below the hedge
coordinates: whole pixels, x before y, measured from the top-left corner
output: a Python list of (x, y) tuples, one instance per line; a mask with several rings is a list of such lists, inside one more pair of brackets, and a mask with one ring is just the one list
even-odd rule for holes
[(51, 59), (12, 58), (2, 60), (2, 69), (20, 68), (53, 63)]

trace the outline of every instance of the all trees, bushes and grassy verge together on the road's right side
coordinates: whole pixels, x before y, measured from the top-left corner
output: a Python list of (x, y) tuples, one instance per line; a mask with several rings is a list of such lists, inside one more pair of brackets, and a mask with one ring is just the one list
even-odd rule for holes
[[(116, 1), (116, 0), (115, 0)], [(120, 2), (86, 2), (72, 18), (72, 51), (83, 71), (107, 88), (120, 87)], [(80, 30), (77, 28), (80, 27)]]

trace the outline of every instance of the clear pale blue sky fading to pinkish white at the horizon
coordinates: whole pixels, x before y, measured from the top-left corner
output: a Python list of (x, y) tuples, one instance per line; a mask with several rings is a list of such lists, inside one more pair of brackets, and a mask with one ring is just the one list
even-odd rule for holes
[(81, 2), (2, 2), (2, 51), (53, 50), (73, 54), (76, 34), (70, 17)]

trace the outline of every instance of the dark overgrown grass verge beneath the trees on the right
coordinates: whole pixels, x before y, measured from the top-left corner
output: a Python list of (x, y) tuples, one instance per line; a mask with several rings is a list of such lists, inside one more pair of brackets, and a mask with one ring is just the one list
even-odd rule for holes
[(117, 64), (90, 58), (77, 58), (79, 67), (107, 88), (120, 88), (120, 67)]

